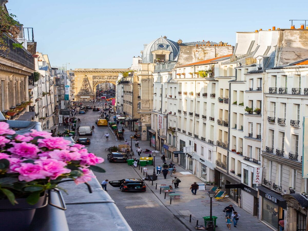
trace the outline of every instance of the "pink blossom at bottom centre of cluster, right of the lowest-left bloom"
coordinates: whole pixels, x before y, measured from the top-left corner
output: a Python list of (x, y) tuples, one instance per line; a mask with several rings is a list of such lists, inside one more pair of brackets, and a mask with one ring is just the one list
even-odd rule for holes
[(40, 160), (36, 160), (34, 163), (42, 166), (45, 171), (52, 173), (51, 180), (55, 180), (58, 176), (71, 172), (70, 169), (64, 168), (67, 164), (60, 160), (41, 157)]

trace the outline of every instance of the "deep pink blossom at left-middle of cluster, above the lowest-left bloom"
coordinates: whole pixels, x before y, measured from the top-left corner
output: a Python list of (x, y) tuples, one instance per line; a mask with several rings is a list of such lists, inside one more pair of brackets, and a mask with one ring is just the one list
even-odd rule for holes
[(26, 142), (12, 143), (14, 147), (7, 149), (7, 151), (17, 156), (22, 156), (28, 159), (37, 157), (38, 152), (41, 150), (35, 145)]

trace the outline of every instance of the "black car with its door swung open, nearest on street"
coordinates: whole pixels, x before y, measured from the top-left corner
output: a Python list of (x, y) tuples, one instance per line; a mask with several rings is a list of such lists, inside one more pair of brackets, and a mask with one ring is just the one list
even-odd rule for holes
[(125, 191), (147, 191), (143, 180), (141, 179), (123, 179), (123, 180), (113, 180), (109, 181), (112, 187), (120, 187), (122, 192)]

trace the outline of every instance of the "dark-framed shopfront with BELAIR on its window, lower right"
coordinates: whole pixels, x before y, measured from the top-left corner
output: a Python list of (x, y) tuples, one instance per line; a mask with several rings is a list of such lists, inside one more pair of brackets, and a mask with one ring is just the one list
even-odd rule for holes
[(259, 189), (259, 202), (261, 203), (261, 220), (267, 225), (278, 230), (278, 222), (284, 220), (284, 210), (287, 209), (286, 200), (283, 197), (263, 186)]

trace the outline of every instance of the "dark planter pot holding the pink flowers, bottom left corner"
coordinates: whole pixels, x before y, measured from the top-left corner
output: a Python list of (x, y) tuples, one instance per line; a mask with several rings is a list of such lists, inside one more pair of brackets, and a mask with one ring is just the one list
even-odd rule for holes
[(26, 198), (16, 199), (18, 204), (12, 205), (9, 200), (0, 200), (1, 230), (28, 230), (35, 210), (47, 205), (47, 194), (40, 197), (38, 203), (29, 205)]

